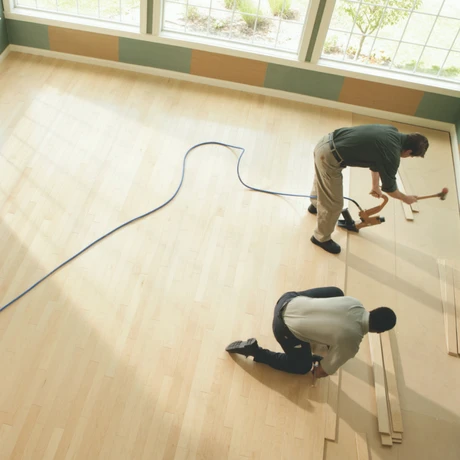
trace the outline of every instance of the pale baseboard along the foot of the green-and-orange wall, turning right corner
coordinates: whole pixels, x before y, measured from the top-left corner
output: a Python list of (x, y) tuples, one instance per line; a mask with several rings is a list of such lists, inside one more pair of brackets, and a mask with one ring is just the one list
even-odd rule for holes
[(236, 91), (244, 91), (252, 94), (260, 94), (263, 96), (275, 97), (280, 99), (287, 99), (290, 101), (301, 102), (310, 105), (317, 105), (321, 107), (329, 107), (332, 109), (343, 110), (345, 112), (352, 112), (359, 115), (383, 118), (387, 121), (393, 121), (398, 123), (405, 123), (415, 126), (421, 126), (425, 128), (438, 129), (445, 131), (450, 134), (451, 147), (453, 154), (454, 173), (457, 183), (457, 195), (460, 202), (460, 152), (458, 146), (457, 133), (455, 125), (453, 123), (446, 123), (442, 121), (429, 120), (426, 118), (419, 118), (410, 115), (397, 114), (393, 112), (386, 112), (378, 109), (371, 109), (367, 107), (361, 107), (357, 105), (345, 104), (343, 102), (330, 101), (327, 99), (321, 99), (312, 96), (304, 96), (302, 94), (289, 93), (286, 91), (280, 91), (271, 88), (262, 88), (258, 86), (245, 85), (242, 83), (234, 83), (224, 80), (216, 80), (213, 78), (206, 78), (197, 75), (190, 75), (181, 72), (173, 72), (170, 70), (157, 69), (154, 67), (144, 67), (135, 64), (126, 64), (118, 61), (107, 61), (104, 59), (91, 58), (86, 56), (78, 56), (74, 54), (59, 53), (57, 51), (49, 51), (39, 48), (31, 48), (19, 45), (9, 45), (0, 56), (1, 60), (5, 59), (10, 52), (19, 52), (25, 54), (35, 54), (39, 56), (45, 56), (55, 59), (64, 59), (67, 61), (80, 62), (83, 64), (98, 65), (102, 67), (110, 67), (114, 69), (127, 70), (129, 72), (144, 73), (148, 75), (154, 75), (164, 78), (174, 78), (177, 80), (185, 80), (193, 83), (217, 86), (220, 88), (232, 89)]

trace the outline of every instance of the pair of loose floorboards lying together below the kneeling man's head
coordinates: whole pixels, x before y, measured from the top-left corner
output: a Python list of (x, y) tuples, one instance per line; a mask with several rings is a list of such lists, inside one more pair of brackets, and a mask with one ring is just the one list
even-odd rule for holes
[[(390, 331), (391, 332), (391, 331)], [(403, 424), (389, 332), (369, 334), (378, 430), (384, 446), (401, 443)]]

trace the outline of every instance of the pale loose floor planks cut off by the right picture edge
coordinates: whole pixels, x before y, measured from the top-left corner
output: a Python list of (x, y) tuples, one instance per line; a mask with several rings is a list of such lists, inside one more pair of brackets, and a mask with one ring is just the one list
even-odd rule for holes
[(438, 271), (444, 312), (447, 353), (452, 356), (458, 356), (453, 269), (445, 259), (438, 259)]

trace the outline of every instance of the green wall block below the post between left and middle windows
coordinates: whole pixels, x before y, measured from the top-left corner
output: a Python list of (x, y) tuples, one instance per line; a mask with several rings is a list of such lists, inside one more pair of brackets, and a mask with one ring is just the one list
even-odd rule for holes
[(190, 73), (192, 50), (120, 37), (120, 62)]

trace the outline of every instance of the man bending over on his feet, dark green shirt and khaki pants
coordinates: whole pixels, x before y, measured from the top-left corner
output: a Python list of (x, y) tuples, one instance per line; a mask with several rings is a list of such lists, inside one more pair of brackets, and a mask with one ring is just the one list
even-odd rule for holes
[(384, 191), (412, 204), (417, 197), (405, 195), (396, 185), (400, 159), (424, 157), (428, 145), (428, 139), (422, 134), (402, 134), (388, 125), (340, 128), (324, 136), (314, 150), (315, 179), (311, 194), (318, 198), (311, 200), (308, 211), (318, 214), (318, 222), (312, 243), (332, 254), (340, 252), (331, 235), (343, 208), (342, 169), (347, 166), (369, 168), (371, 195), (379, 198)]

